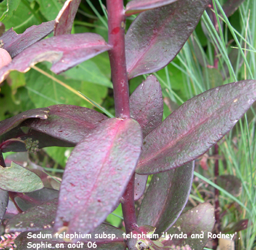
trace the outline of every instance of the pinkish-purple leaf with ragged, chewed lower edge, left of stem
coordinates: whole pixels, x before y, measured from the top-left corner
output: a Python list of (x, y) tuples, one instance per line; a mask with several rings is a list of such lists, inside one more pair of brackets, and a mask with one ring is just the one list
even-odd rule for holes
[(98, 34), (83, 33), (54, 36), (24, 49), (7, 66), (0, 69), (0, 82), (11, 70), (27, 72), (38, 62), (52, 62), (51, 70), (59, 74), (111, 49)]

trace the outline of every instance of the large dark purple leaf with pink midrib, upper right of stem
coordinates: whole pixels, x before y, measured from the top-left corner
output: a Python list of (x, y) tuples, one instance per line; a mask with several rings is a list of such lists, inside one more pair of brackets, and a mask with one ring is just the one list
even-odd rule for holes
[(128, 78), (164, 68), (189, 38), (208, 0), (184, 0), (144, 11), (126, 34)]

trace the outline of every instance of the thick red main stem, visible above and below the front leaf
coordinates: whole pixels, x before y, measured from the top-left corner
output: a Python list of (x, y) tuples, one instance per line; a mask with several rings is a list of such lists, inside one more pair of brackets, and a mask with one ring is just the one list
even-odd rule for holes
[[(125, 59), (125, 11), (123, 0), (107, 0), (109, 44), (113, 49), (109, 51), (109, 59), (114, 89), (115, 116), (121, 119), (130, 118), (129, 85)], [(134, 206), (134, 178), (129, 181), (123, 194), (123, 220), (126, 234), (137, 226)]]

